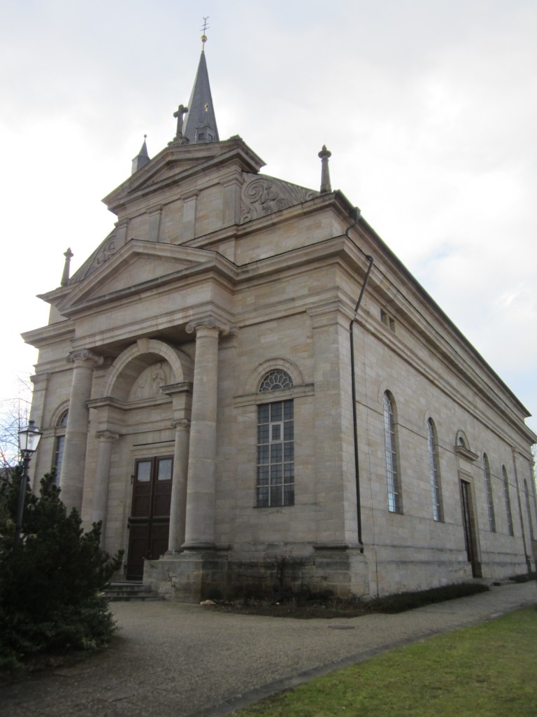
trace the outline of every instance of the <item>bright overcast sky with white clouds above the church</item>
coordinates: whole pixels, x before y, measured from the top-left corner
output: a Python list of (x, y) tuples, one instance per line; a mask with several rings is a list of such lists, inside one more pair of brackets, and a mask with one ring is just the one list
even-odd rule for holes
[[(537, 414), (535, 0), (0, 0), (0, 398), (35, 298), (113, 227), (100, 199), (175, 134), (205, 47), (221, 139), (341, 189)], [(537, 419), (528, 419), (537, 430)]]

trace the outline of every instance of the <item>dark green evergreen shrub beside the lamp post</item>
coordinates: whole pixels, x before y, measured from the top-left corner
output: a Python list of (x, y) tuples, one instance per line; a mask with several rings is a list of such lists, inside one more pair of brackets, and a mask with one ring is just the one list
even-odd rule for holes
[(100, 547), (100, 523), (84, 533), (54, 484), (42, 478), (39, 497), (26, 490), (21, 541), (14, 544), (18, 467), (0, 495), (0, 668), (42, 652), (101, 647), (115, 622), (102, 589), (121, 564)]

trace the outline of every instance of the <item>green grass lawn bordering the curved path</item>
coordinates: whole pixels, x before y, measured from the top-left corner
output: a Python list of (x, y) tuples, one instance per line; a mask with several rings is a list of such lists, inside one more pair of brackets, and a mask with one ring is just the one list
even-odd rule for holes
[(537, 717), (537, 606), (400, 647), (236, 717)]

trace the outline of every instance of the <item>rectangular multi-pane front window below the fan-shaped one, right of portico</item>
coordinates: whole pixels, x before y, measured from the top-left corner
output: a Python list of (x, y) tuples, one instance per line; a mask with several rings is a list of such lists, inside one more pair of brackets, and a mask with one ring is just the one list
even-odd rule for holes
[(293, 401), (257, 407), (256, 505), (294, 505)]

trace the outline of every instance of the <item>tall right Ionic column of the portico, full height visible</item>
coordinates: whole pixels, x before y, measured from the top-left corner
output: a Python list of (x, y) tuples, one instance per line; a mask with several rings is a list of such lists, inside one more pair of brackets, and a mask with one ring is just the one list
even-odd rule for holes
[(186, 331), (196, 336), (183, 548), (209, 548), (214, 546), (218, 333), (227, 328), (208, 319), (189, 323)]

